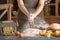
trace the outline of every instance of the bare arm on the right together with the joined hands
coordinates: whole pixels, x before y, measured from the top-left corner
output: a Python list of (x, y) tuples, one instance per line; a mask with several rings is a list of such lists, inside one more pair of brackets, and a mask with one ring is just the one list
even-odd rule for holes
[(37, 6), (35, 12), (31, 13), (30, 17), (28, 19), (30, 23), (32, 23), (34, 21), (34, 18), (41, 13), (41, 11), (43, 10), (43, 7), (44, 7), (44, 3), (45, 3), (45, 0), (39, 0), (38, 6)]

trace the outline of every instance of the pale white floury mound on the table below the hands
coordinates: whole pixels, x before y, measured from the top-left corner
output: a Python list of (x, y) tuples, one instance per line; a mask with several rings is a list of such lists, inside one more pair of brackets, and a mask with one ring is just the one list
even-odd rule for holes
[(39, 30), (39, 29), (28, 28), (28, 29), (25, 29), (23, 31), (23, 35), (24, 36), (34, 37), (34, 36), (38, 36), (40, 31), (41, 30)]

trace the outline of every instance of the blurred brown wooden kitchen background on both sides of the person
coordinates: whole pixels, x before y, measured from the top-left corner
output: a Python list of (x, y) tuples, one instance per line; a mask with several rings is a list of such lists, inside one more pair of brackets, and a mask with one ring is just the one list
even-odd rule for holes
[[(18, 18), (18, 5), (16, 0), (0, 0), (0, 5), (2, 4), (9, 4), (11, 3), (13, 5), (11, 9), (11, 20)], [(5, 9), (0, 9), (0, 15)], [(17, 15), (15, 15), (17, 14)], [(46, 21), (51, 24), (51, 23), (60, 23), (60, 0), (50, 0), (48, 1), (48, 4), (45, 4), (44, 8), (44, 15)], [(0, 19), (0, 21), (7, 20), (7, 12), (6, 14)]]

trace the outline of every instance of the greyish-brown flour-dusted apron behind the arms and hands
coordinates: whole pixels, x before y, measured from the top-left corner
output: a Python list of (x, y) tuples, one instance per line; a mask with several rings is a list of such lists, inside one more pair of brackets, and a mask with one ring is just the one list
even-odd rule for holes
[[(38, 5), (39, 0), (23, 0), (25, 7), (30, 13), (33, 13)], [(18, 22), (19, 22), (19, 30), (24, 31), (25, 29), (32, 28), (32, 29), (40, 29), (40, 28), (48, 28), (49, 24), (44, 19), (44, 14), (41, 12), (35, 19), (34, 19), (34, 25), (36, 27), (31, 27), (27, 16), (20, 10), (18, 10)]]

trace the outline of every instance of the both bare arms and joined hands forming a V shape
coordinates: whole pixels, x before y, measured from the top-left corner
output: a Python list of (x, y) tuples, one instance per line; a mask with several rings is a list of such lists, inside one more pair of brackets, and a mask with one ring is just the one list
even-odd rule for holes
[(29, 22), (33, 22), (34, 18), (43, 10), (45, 0), (39, 0), (38, 6), (33, 14), (30, 14), (24, 6), (23, 0), (17, 0), (19, 9), (28, 17)]

